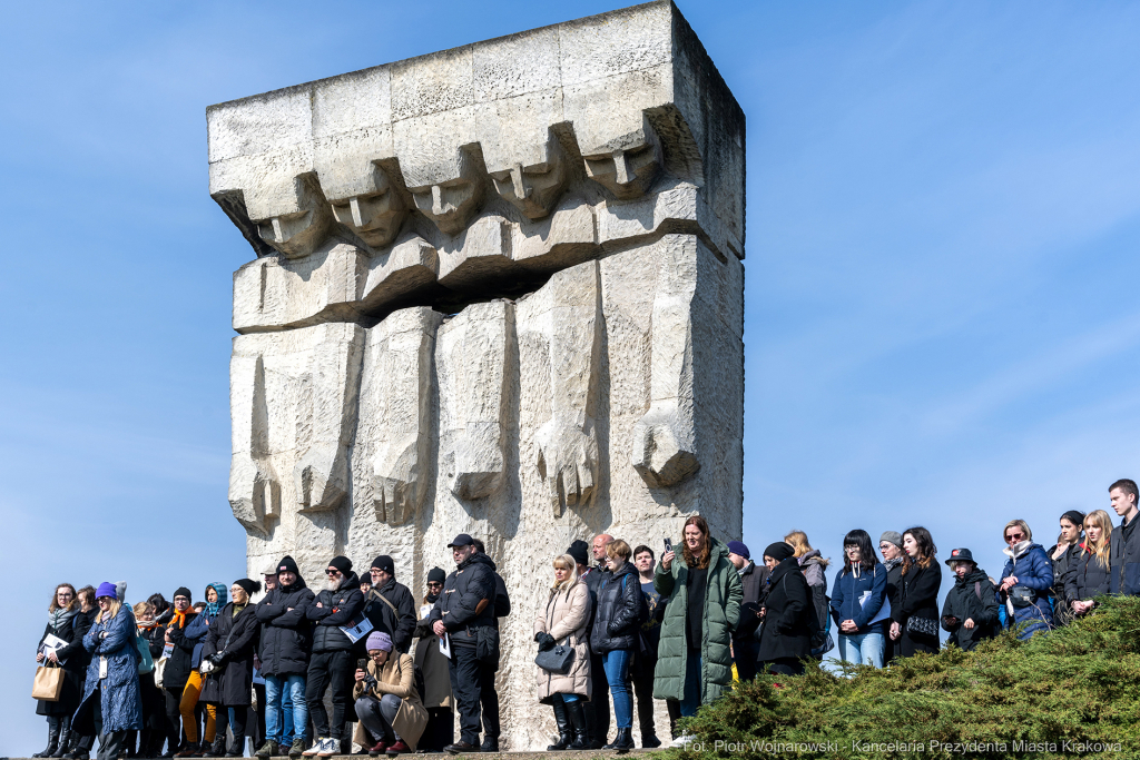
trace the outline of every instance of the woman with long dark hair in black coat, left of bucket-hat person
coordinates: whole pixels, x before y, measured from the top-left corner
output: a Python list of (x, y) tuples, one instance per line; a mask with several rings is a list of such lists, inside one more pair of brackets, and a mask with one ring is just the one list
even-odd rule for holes
[(938, 652), (938, 589), (942, 565), (930, 531), (910, 528), (903, 533), (903, 551), (911, 564), (903, 567), (903, 589), (897, 610), (891, 610), (890, 638), (898, 643), (898, 656)]

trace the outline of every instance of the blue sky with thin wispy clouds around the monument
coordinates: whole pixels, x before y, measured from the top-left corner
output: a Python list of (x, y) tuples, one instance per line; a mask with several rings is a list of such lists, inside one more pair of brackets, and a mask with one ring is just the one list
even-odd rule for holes
[[(206, 191), (205, 107), (614, 7), (8, 3), (0, 755), (42, 749), (56, 582), (244, 574), (251, 252)], [(1107, 508), (1140, 463), (1140, 6), (681, 9), (748, 116), (744, 540), (839, 559), (850, 528), (926, 524), (996, 577), (1009, 518), (1050, 544)]]

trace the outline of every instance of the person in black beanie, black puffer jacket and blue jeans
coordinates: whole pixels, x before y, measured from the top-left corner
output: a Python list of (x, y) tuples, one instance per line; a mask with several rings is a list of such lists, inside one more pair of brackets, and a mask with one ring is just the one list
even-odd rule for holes
[[(287, 696), (293, 711), (294, 738), (288, 749), (293, 760), (301, 757), (309, 729), (309, 705), (304, 701), (304, 678), (309, 670), (312, 626), (308, 612), (312, 590), (306, 585), (293, 557), (277, 563), (276, 588), (258, 603), (254, 614), (261, 623), (259, 660), (266, 678), (266, 743), (258, 757), (276, 757), (284, 737), (283, 703)], [(287, 694), (286, 694), (287, 693)]]

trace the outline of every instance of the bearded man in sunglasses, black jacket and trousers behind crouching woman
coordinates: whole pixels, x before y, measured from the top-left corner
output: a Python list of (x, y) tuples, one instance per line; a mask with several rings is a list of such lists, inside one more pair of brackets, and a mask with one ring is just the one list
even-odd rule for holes
[[(304, 755), (331, 758), (348, 754), (342, 745), (347, 739), (344, 725), (352, 703), (352, 683), (356, 663), (352, 661), (352, 639), (341, 630), (351, 624), (364, 605), (360, 580), (352, 572), (348, 557), (333, 557), (325, 570), (326, 588), (317, 595), (306, 615), (315, 623), (312, 630), (312, 657), (304, 685), (304, 701), (309, 704), (312, 732), (316, 743), (304, 751)], [(325, 711), (325, 688), (333, 688), (333, 721), (329, 725)]]

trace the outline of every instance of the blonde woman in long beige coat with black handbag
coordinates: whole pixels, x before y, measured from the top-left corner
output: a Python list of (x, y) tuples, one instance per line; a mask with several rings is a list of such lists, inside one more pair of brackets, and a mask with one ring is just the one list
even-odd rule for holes
[[(570, 671), (556, 673), (538, 670), (538, 701), (554, 708), (554, 721), (559, 727), (559, 741), (546, 749), (585, 750), (589, 744), (586, 735), (586, 712), (583, 702), (589, 701), (593, 687), (589, 679), (589, 644), (586, 624), (589, 622), (589, 589), (578, 578), (578, 565), (569, 554), (554, 558), (554, 586), (551, 587), (546, 605), (535, 619), (535, 641), (538, 651), (545, 652), (555, 645), (573, 648)], [(571, 734), (572, 732), (572, 734)]]

